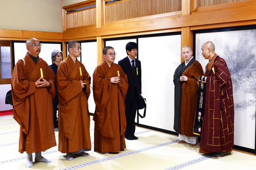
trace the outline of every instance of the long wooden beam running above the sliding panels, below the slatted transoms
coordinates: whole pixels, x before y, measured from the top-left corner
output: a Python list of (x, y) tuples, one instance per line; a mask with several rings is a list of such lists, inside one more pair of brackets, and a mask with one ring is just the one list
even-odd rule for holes
[[(125, 21), (112, 22), (100, 28), (87, 29), (88, 27), (70, 28), (64, 31), (64, 37), (73, 38), (111, 36), (117, 34), (140, 33), (145, 31), (158, 31), (172, 28), (208, 26), (211, 24), (224, 24), (241, 21), (250, 23), (256, 20), (256, 6), (244, 6), (240, 8), (225, 8), (222, 10), (211, 10), (192, 13), (190, 15), (159, 14), (157, 16), (141, 17)], [(214, 16), (214, 17), (212, 17)], [(214, 27), (212, 27), (214, 28)], [(73, 31), (72, 30), (76, 30)]]

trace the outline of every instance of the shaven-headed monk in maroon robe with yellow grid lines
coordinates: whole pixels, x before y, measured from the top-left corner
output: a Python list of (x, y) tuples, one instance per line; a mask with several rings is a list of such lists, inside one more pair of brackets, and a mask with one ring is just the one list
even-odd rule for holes
[(200, 153), (224, 156), (234, 146), (234, 102), (230, 72), (224, 59), (215, 54), (212, 42), (205, 42), (202, 54), (209, 59), (205, 71), (205, 108)]

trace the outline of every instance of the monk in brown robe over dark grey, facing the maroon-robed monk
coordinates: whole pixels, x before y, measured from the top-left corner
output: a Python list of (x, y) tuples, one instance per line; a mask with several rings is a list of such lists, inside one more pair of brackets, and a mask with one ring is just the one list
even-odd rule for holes
[(191, 47), (182, 48), (182, 62), (173, 76), (175, 84), (175, 119), (174, 130), (179, 132), (178, 143), (190, 143), (195, 146), (198, 136), (193, 134), (193, 125), (196, 112), (198, 94), (198, 77), (204, 74), (200, 62), (192, 57)]

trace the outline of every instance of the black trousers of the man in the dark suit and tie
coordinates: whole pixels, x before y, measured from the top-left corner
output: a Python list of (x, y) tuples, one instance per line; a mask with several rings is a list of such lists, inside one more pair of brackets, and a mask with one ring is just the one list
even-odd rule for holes
[(134, 87), (134, 94), (130, 100), (125, 99), (125, 116), (126, 116), (126, 130), (125, 137), (134, 136), (135, 132), (135, 117), (137, 112), (138, 94), (137, 88)]

